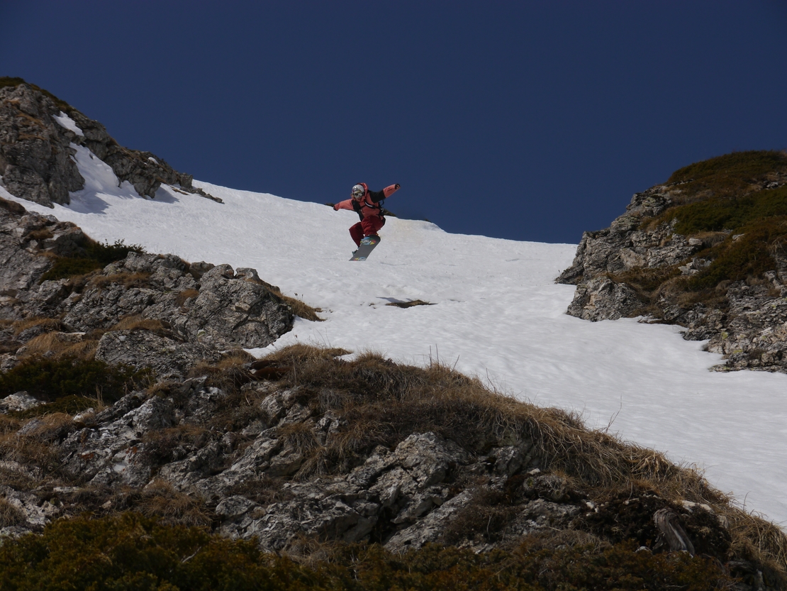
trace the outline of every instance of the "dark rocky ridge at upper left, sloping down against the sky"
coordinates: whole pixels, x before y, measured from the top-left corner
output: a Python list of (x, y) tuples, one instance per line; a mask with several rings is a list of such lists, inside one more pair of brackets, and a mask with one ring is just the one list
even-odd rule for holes
[(72, 144), (87, 147), (139, 195), (155, 196), (163, 182), (220, 202), (194, 188), (190, 175), (150, 152), (119, 146), (98, 121), (51, 95), (24, 83), (0, 87), (0, 182), (12, 195), (46, 206), (69, 203), (68, 191), (84, 187)]

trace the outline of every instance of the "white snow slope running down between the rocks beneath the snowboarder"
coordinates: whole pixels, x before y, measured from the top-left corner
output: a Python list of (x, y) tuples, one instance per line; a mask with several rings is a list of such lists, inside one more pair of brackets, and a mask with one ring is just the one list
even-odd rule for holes
[[(50, 210), (2, 188), (0, 195), (73, 221), (96, 240), (256, 268), (323, 308), (325, 322), (298, 319), (271, 348), (305, 342), (415, 364), (439, 359), (519, 399), (578, 411), (588, 426), (612, 422), (624, 440), (705, 470), (747, 510), (787, 521), (787, 375), (710, 372), (720, 356), (682, 340), (678, 327), (567, 316), (574, 288), (553, 280), (574, 244), (453, 235), (390, 217), (369, 260), (349, 262), (353, 212), (197, 182), (224, 203), (168, 187), (142, 199), (74, 147), (87, 182), (70, 206)], [(388, 205), (396, 210), (396, 195)], [(386, 306), (411, 299), (434, 305)]]

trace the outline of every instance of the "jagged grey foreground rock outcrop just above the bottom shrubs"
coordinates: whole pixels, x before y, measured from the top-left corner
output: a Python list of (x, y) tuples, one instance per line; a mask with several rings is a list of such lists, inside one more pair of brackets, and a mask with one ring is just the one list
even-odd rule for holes
[[(320, 474), (314, 452), (346, 437), (347, 417), (338, 408), (320, 411), (312, 396), (306, 388), (253, 380), (233, 395), (198, 377), (131, 392), (103, 411), (57, 423), (32, 418), (17, 440), (46, 441), (57, 470), (39, 471), (35, 492), (2, 486), (24, 519), (0, 533), (39, 530), (86, 505), (157, 506), (161, 515), (201, 507), (201, 519), (217, 532), (256, 538), (271, 552), (305, 539), (377, 541), (396, 552), (429, 542), (482, 551), (538, 533), (600, 530), (593, 525), (604, 521), (598, 507), (566, 478), (538, 467), (533, 441), (479, 454), (438, 433), (411, 433), (393, 448), (378, 445), (354, 465)], [(231, 429), (218, 429), (222, 422)], [(22, 473), (32, 478), (21, 464), (0, 468), (9, 481)], [(48, 511), (40, 515), (44, 497)], [(711, 530), (726, 535), (710, 507), (651, 503), (671, 511), (700, 543)], [(656, 535), (652, 525), (641, 526)]]

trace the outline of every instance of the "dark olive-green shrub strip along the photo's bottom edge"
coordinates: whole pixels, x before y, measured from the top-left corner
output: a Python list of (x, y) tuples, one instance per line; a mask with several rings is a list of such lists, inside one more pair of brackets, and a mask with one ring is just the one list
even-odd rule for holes
[(265, 555), (253, 541), (164, 526), (126, 513), (60, 520), (42, 534), (0, 546), (0, 581), (8, 591), (150, 589), (300, 591), (346, 589), (719, 589), (721, 565), (685, 553), (637, 552), (633, 543), (550, 548), (534, 538), (507, 552), (427, 545), (403, 555), (379, 545), (338, 545), (309, 566)]

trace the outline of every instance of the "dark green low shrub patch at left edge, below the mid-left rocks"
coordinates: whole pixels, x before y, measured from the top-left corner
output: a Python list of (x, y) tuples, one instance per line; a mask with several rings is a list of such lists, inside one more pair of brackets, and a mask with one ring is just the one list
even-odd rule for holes
[(105, 402), (114, 402), (148, 375), (144, 370), (110, 366), (96, 359), (34, 358), (0, 374), (0, 398), (25, 390), (50, 402), (67, 396), (101, 396)]

